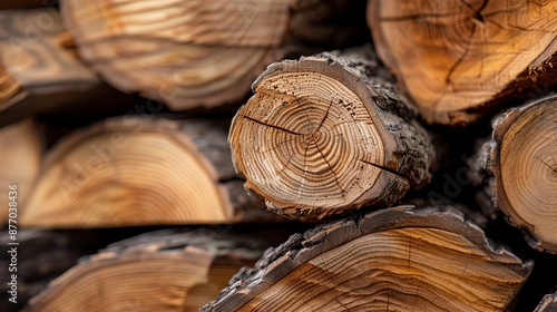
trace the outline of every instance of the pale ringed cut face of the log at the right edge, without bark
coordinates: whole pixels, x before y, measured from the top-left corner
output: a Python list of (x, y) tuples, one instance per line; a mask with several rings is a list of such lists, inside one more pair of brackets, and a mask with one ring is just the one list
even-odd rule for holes
[(500, 181), (516, 225), (557, 246), (557, 101), (527, 109), (506, 133)]

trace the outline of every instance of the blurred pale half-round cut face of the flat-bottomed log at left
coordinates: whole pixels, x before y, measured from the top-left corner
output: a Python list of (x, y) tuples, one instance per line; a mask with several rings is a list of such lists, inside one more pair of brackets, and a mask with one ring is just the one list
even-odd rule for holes
[[(141, 124), (128, 127), (130, 120)], [(215, 169), (193, 143), (165, 129), (168, 120), (160, 121), (160, 129), (153, 120), (113, 120), (126, 130), (76, 133), (55, 146), (50, 155), (56, 157), (38, 177), (21, 223), (106, 227), (228, 222), (231, 207)], [(134, 130), (137, 125), (143, 129)]]

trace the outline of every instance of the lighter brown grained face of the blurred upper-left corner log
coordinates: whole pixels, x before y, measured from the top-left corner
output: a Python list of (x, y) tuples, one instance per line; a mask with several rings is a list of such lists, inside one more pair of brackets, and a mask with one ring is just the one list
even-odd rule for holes
[(53, 8), (0, 11), (0, 81), (9, 84), (2, 94), (12, 90), (11, 96), (2, 96), (0, 108), (21, 100), (22, 90), (52, 94), (99, 84), (71, 50), (59, 45), (58, 37), (65, 31)]

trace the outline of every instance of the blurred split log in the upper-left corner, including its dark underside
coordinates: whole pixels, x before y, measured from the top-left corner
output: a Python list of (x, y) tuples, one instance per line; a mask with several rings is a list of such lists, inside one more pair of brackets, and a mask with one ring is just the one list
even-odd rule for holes
[(55, 8), (0, 11), (0, 126), (43, 114), (124, 114), (130, 106), (77, 57)]

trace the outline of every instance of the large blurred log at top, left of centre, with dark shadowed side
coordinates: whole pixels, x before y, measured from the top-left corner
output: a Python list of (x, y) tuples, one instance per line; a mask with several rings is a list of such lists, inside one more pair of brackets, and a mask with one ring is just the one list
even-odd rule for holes
[[(61, 3), (84, 59), (116, 88), (172, 109), (244, 98), (285, 55), (345, 45), (361, 33), (361, 0), (134, 1)], [(358, 38), (358, 37), (356, 37)]]

